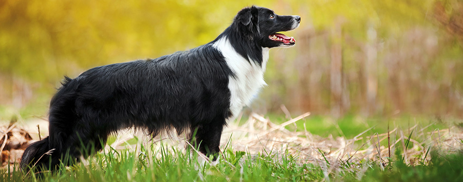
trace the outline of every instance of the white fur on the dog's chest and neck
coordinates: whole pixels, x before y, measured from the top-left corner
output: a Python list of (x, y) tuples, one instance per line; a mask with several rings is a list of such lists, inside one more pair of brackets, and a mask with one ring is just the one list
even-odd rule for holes
[(228, 83), (231, 92), (230, 110), (232, 114), (228, 120), (234, 120), (241, 112), (241, 109), (249, 105), (262, 87), (266, 85), (264, 72), (269, 60), (270, 48), (262, 49), (263, 61), (261, 67), (254, 61), (244, 59), (235, 51), (226, 38), (217, 40), (213, 46), (223, 54), (228, 66), (235, 74), (234, 77), (229, 78)]

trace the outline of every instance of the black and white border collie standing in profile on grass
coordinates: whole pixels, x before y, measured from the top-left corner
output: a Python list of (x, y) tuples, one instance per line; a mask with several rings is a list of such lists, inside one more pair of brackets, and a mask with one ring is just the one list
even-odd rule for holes
[(300, 20), (246, 7), (205, 45), (65, 77), (50, 102), (49, 136), (27, 147), (20, 167), (69, 165), (85, 155), (81, 151), (100, 150), (108, 135), (128, 127), (146, 128), (153, 137), (169, 129), (190, 131), (193, 145), (216, 156), (227, 121), (266, 84), (270, 48), (295, 43), (277, 32), (295, 29)]

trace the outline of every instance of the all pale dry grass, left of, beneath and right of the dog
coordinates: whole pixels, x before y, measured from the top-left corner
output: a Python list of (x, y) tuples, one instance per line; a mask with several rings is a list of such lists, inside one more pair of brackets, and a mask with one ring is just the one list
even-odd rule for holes
[[(231, 123), (224, 130), (221, 149), (231, 147), (234, 151), (245, 151), (251, 156), (264, 154), (275, 158), (287, 152), (296, 156), (296, 160), (300, 163), (316, 163), (320, 166), (328, 164), (329, 167), (326, 167), (328, 173), (339, 166), (360, 166), (364, 161), (374, 161), (382, 163), (381, 167), (386, 166), (391, 161), (390, 155), (398, 148), (400, 150), (406, 148), (401, 153), (405, 163), (410, 165), (427, 164), (431, 150), (445, 153), (463, 151), (463, 132), (458, 128), (429, 131), (426, 128), (430, 125), (422, 127), (416, 124), (406, 129), (392, 128), (388, 133), (367, 135), (372, 129), (369, 128), (353, 138), (331, 136), (323, 138), (312, 135), (306, 128), (304, 131), (290, 131), (285, 128), (287, 125), (301, 122), (309, 115), (310, 113), (305, 113), (287, 122), (276, 124), (261, 115), (252, 113), (246, 123), (242, 125)], [(34, 132), (37, 133), (37, 131), (27, 132), (16, 123), (0, 127), (2, 166), (8, 161), (19, 162), (24, 148), (34, 142), (29, 134)], [(141, 140), (135, 140), (138, 141), (136, 143), (130, 142), (135, 137)], [(184, 150), (186, 143), (183, 139), (184, 137), (181, 136), (164, 136), (150, 140), (142, 132), (135, 132), (134, 135), (132, 129), (119, 132), (116, 141), (106, 148), (136, 150), (136, 145), (163, 141), (178, 146), (179, 150)], [(14, 155), (10, 155), (12, 153)]]

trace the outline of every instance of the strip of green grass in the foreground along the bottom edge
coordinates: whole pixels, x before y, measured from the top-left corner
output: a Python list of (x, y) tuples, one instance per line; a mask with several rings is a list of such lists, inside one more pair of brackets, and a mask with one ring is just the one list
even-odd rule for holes
[[(326, 181), (325, 174), (332, 169), (324, 165), (301, 163), (297, 156), (286, 154), (249, 155), (227, 149), (216, 165), (198, 162), (197, 155), (181, 152), (174, 147), (141, 146), (138, 152), (114, 150), (100, 152), (84, 162), (41, 175), (24, 175), (21, 171), (0, 171), (1, 182), (16, 181), (70, 181), (70, 182), (179, 182), (179, 181)], [(355, 165), (341, 165), (328, 178), (334, 181), (461, 181), (463, 155), (432, 153), (428, 165), (406, 165), (400, 150), (395, 160), (384, 169), (376, 162), (364, 161)], [(358, 167), (355, 167), (358, 166)], [(11, 172), (11, 176), (9, 175)]]

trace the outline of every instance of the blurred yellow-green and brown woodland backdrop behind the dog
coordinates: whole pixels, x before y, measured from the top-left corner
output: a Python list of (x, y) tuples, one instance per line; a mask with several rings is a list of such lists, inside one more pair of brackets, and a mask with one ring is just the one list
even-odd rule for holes
[(462, 116), (461, 0), (2, 0), (0, 105), (46, 107), (63, 75), (207, 43), (252, 4), (302, 17), (254, 108)]

